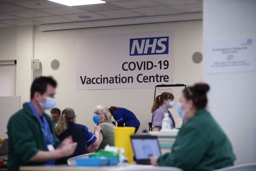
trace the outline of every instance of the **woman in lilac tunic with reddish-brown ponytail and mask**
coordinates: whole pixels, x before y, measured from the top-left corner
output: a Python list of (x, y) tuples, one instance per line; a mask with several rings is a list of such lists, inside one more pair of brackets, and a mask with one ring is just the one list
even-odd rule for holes
[(156, 96), (153, 106), (151, 108), (152, 115), (152, 126), (153, 131), (160, 131), (162, 129), (162, 119), (164, 114), (168, 113), (169, 118), (172, 120), (171, 128), (175, 128), (174, 119), (168, 108), (174, 106), (174, 96), (170, 92), (162, 92), (162, 94)]

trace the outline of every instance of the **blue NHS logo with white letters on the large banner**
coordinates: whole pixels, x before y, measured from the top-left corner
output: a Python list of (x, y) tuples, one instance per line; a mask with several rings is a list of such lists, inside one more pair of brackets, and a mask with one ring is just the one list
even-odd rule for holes
[(130, 39), (130, 56), (168, 54), (169, 37)]

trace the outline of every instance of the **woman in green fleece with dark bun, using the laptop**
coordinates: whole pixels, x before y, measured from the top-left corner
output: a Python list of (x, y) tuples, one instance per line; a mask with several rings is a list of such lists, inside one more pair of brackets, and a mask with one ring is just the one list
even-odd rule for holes
[(184, 119), (171, 153), (151, 157), (152, 165), (178, 167), (184, 171), (212, 171), (234, 165), (232, 145), (206, 110), (210, 87), (198, 83), (182, 91), (178, 113)]

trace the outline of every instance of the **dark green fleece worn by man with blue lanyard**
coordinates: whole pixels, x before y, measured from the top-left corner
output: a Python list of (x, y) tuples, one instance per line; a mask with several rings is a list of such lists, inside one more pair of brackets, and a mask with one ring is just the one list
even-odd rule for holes
[[(45, 113), (44, 116), (50, 126), (56, 148), (60, 145), (60, 141), (56, 138), (50, 116)], [(44, 163), (26, 163), (38, 150), (46, 151), (41, 125), (28, 103), (24, 103), (23, 109), (10, 118), (7, 130), (9, 137), (8, 171), (18, 171), (21, 165), (44, 165)]]

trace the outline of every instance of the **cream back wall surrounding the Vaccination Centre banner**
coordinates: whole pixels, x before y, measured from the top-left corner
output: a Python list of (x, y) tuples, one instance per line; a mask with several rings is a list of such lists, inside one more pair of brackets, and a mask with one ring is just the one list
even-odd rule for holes
[[(8, 29), (4, 31), (8, 32)], [(39, 31), (36, 27), (34, 58), (40, 59), (42, 75), (52, 75), (58, 81), (56, 107), (61, 110), (66, 107), (74, 108), (78, 116), (77, 122), (85, 124), (89, 130), (93, 131), (95, 124), (92, 122), (92, 114), (97, 104), (120, 106), (136, 114), (141, 123), (138, 132), (142, 132), (143, 129), (148, 130), (154, 88), (76, 90), (75, 86), (75, 54), (78, 37), (144, 31), (174, 31), (175, 84), (192, 85), (203, 80), (203, 64), (192, 62), (192, 54), (195, 51), (203, 51), (202, 20), (46, 32)], [(21, 96), (21, 103), (28, 101), (30, 96), (32, 32), (32, 27), (17, 28), (17, 72), (19, 73), (17, 74), (16, 95)], [(50, 62), (53, 59), (60, 61), (60, 68), (57, 71), (50, 68)], [(1, 57), (0, 60), (2, 60)]]

